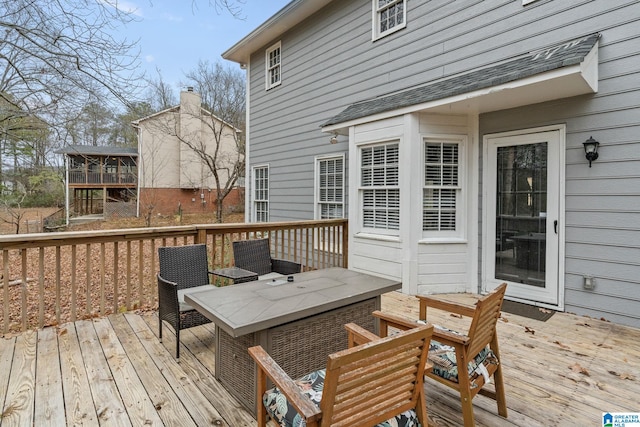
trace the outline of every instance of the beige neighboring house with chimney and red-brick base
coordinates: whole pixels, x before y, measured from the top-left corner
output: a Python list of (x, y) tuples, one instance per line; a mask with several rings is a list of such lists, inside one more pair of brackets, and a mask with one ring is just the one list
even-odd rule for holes
[[(224, 188), (233, 176), (230, 171), (243, 160), (236, 144), (240, 131), (204, 110), (192, 88), (180, 94), (180, 105), (136, 120), (133, 126), (140, 156), (139, 214), (215, 212), (217, 186), (207, 162), (215, 161)], [(224, 207), (241, 206), (242, 197), (233, 185)]]

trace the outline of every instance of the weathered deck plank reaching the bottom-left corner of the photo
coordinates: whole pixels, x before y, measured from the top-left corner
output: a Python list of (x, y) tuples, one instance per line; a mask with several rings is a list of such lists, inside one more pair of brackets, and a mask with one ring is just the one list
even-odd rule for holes
[(3, 427), (33, 424), (37, 339), (33, 331), (24, 332), (16, 338), (2, 411)]

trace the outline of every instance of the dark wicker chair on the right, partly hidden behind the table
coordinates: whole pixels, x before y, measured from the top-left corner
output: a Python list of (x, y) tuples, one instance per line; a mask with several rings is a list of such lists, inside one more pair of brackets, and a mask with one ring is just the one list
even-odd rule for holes
[[(253, 271), (259, 276), (270, 273), (300, 273), (301, 264), (293, 261), (271, 258), (269, 239), (238, 240), (233, 242), (233, 259), (236, 267)], [(265, 277), (260, 277), (264, 279)]]

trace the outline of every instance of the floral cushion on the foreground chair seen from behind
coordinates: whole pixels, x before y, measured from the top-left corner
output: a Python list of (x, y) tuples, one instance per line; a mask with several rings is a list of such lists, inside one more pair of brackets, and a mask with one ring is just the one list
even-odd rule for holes
[[(316, 406), (320, 406), (324, 388), (325, 370), (307, 374), (296, 381), (303, 394), (306, 394)], [(287, 401), (287, 397), (277, 387), (267, 390), (262, 396), (267, 412), (280, 427), (306, 427), (307, 423)], [(415, 411), (410, 410), (395, 418), (378, 424), (376, 427), (420, 427)]]

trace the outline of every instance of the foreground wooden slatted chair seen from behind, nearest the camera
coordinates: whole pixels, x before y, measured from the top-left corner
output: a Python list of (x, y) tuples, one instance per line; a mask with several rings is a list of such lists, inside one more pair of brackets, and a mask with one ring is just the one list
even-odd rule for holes
[[(258, 367), (259, 427), (267, 425), (267, 413), (278, 425), (302, 419), (307, 427), (374, 426), (394, 418), (391, 425), (415, 425), (416, 418), (427, 425), (423, 376), (433, 326), (387, 338), (345, 327), (349, 343), (361, 345), (329, 355), (325, 370), (297, 381), (262, 347), (249, 348)], [(267, 390), (267, 378), (276, 388)]]

